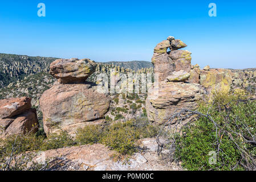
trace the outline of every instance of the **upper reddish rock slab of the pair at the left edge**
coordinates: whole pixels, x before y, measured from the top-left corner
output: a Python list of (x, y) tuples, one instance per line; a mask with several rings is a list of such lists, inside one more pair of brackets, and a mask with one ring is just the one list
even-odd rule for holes
[(7, 98), (0, 100), (0, 118), (12, 118), (31, 108), (31, 98)]

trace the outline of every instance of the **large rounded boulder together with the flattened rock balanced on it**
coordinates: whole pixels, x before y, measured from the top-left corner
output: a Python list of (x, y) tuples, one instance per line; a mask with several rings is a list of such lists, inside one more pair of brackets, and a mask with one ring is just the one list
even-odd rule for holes
[(86, 82), (95, 69), (96, 63), (90, 59), (62, 59), (51, 63), (50, 73), (58, 81), (40, 98), (46, 134), (61, 129), (74, 135), (79, 128), (104, 122), (110, 98)]

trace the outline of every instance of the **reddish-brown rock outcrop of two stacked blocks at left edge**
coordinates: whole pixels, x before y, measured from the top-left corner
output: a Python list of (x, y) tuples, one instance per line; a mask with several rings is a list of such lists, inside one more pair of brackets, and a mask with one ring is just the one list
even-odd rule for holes
[(38, 125), (36, 110), (31, 109), (31, 98), (22, 97), (0, 100), (1, 138), (6, 135), (35, 132)]

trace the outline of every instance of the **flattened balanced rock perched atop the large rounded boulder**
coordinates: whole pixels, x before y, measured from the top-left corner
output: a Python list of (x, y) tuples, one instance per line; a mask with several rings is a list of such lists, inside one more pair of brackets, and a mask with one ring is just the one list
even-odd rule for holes
[(96, 63), (90, 59), (58, 59), (51, 63), (50, 74), (63, 84), (81, 83), (95, 72)]

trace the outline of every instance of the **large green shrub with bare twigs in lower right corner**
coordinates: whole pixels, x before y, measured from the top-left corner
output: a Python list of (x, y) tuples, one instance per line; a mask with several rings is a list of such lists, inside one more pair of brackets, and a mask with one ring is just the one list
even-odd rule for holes
[[(201, 103), (198, 111), (209, 114), (176, 134), (176, 159), (188, 170), (242, 170), (256, 161), (256, 147), (246, 142), (256, 135), (256, 101), (237, 102), (235, 95), (217, 94), (209, 104)], [(228, 105), (226, 105), (228, 104)], [(226, 105), (226, 106), (224, 106)], [(210, 164), (210, 151), (217, 154), (216, 164)], [(241, 156), (246, 151), (246, 159)], [(250, 156), (250, 157), (249, 157)], [(246, 160), (246, 161), (245, 161)]]

